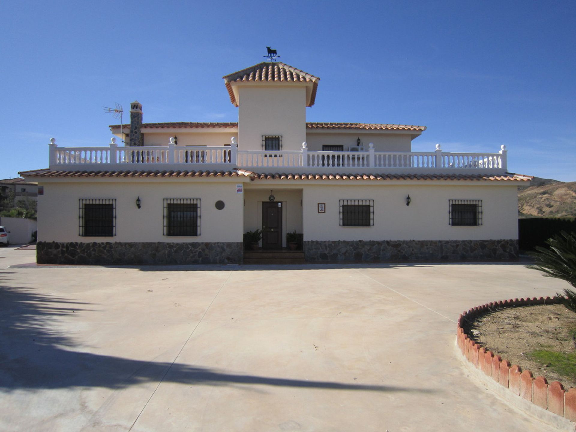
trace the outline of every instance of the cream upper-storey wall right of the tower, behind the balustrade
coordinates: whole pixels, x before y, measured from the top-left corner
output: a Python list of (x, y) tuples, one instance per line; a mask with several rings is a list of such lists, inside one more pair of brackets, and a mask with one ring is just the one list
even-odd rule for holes
[[(376, 151), (411, 151), (411, 135), (409, 134), (366, 134), (363, 131), (351, 132), (306, 132), (306, 143), (308, 143), (308, 150), (320, 151), (322, 145), (342, 145), (344, 151), (348, 151), (348, 147), (357, 145), (357, 139), (360, 138), (360, 145), (364, 147), (364, 151), (368, 151), (368, 144), (374, 143), (374, 150)], [(430, 149), (433, 151), (434, 149)]]

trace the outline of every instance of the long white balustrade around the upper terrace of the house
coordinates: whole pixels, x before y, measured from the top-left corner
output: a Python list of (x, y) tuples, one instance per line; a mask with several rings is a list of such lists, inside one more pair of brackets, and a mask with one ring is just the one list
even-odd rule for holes
[[(368, 151), (310, 151), (302, 143), (301, 150), (238, 150), (236, 139), (229, 146), (176, 146), (170, 138), (168, 146), (118, 147), (112, 138), (109, 147), (58, 147), (50, 140), (50, 168), (78, 169), (78, 166), (101, 165), (108, 169), (120, 166), (157, 166), (156, 169), (185, 169), (195, 165), (234, 166), (237, 168), (304, 168), (337, 172), (505, 172), (506, 146), (498, 153), (449, 153), (439, 144), (430, 153), (418, 151), (375, 151), (372, 143)], [(66, 167), (66, 168), (65, 168)], [(219, 168), (221, 169), (221, 168)], [(372, 170), (370, 170), (372, 169)], [(294, 170), (298, 172), (298, 170)]]

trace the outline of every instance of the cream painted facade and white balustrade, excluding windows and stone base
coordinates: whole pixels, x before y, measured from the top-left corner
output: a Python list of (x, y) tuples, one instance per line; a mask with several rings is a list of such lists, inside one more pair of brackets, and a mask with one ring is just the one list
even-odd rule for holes
[[(506, 173), (504, 146), (499, 153), (447, 153), (439, 146), (414, 153), (411, 141), (424, 127), (307, 126), (306, 107), (315, 97), (310, 82), (240, 80), (229, 93), (238, 105), (237, 125), (144, 123), (145, 147), (62, 148), (52, 141), (47, 173), (24, 173), (44, 187), (39, 241), (238, 243), (245, 232), (263, 228), (270, 195), (282, 207), (282, 247), (294, 230), (304, 242), (517, 240), (517, 184), (525, 179)], [(119, 126), (111, 128), (120, 135)], [(281, 149), (264, 150), (266, 136), (282, 137)], [(150, 172), (158, 175), (145, 175)], [(79, 230), (79, 200), (96, 198), (116, 200), (113, 237)], [(198, 236), (165, 235), (165, 198), (200, 200)], [(370, 226), (343, 226), (340, 200), (346, 199), (371, 200)], [(216, 209), (218, 200), (224, 209)], [(480, 203), (482, 222), (451, 225), (450, 200)]]

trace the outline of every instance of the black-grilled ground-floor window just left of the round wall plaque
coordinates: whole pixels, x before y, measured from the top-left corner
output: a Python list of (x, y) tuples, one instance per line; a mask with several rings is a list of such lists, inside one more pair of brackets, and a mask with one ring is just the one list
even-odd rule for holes
[(200, 235), (200, 198), (164, 198), (164, 235)]

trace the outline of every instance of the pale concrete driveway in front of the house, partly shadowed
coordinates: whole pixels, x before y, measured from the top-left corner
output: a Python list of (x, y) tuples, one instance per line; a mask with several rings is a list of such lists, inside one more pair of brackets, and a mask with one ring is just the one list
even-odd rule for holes
[[(522, 264), (38, 267), (0, 248), (0, 430), (552, 431), (466, 377)], [(9, 267), (9, 268), (8, 268)]]

